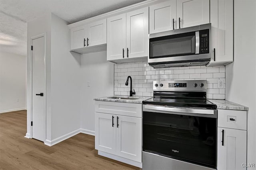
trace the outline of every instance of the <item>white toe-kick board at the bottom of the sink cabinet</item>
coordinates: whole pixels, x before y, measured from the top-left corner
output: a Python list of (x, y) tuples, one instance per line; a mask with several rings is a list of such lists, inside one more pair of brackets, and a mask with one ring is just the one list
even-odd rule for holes
[(134, 160), (130, 160), (130, 159), (126, 159), (120, 156), (116, 156), (114, 154), (110, 154), (110, 153), (106, 153), (106, 152), (102, 152), (100, 150), (98, 150), (98, 155), (110, 158), (110, 159), (114, 159), (114, 160), (118, 160), (119, 162), (124, 162), (126, 164), (130, 164), (133, 166), (137, 166), (139, 168), (142, 168), (142, 162), (136, 162)]

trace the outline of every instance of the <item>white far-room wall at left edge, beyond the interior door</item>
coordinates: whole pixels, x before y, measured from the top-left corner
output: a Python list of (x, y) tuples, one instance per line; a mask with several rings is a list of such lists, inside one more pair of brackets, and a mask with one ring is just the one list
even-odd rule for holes
[(0, 113), (26, 109), (26, 56), (0, 52)]

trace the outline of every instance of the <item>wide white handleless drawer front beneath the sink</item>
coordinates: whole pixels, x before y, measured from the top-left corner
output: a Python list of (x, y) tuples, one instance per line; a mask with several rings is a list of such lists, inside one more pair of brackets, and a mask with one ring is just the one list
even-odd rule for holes
[(95, 112), (142, 117), (142, 104), (95, 101)]

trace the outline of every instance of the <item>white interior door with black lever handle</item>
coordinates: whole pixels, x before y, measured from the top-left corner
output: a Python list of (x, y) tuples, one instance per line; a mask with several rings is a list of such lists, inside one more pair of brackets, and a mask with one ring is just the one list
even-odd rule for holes
[[(33, 39), (32, 46), (32, 138), (44, 141), (44, 37)], [(40, 93), (43, 93), (43, 95), (40, 95)]]

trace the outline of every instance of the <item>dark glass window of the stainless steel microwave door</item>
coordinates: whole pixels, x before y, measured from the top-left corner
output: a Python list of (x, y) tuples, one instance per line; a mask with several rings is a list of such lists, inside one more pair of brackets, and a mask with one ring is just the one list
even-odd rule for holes
[(194, 55), (195, 48), (195, 32), (151, 38), (150, 59)]

